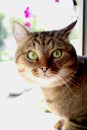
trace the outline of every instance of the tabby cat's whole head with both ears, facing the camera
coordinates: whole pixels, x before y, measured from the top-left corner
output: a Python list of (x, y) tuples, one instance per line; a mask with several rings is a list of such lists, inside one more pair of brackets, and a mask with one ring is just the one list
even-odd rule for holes
[(43, 87), (69, 81), (77, 69), (76, 52), (68, 41), (75, 23), (59, 31), (30, 33), (14, 22), (13, 33), (18, 45), (15, 61), (25, 79)]

